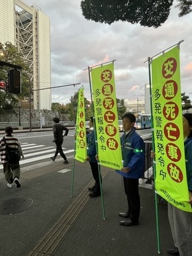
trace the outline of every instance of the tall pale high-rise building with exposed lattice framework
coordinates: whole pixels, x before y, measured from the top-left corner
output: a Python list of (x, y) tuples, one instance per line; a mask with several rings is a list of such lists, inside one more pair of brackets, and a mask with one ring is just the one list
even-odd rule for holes
[(0, 10), (0, 42), (15, 45), (30, 68), (33, 108), (51, 109), (50, 18), (21, 0), (1, 0)]

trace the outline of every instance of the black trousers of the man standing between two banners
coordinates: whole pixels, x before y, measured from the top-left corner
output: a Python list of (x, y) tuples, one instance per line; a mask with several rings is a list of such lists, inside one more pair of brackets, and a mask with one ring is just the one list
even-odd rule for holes
[(128, 212), (130, 214), (130, 220), (132, 222), (138, 222), (140, 216), (140, 196), (138, 193), (138, 178), (125, 178), (124, 192), (128, 202)]

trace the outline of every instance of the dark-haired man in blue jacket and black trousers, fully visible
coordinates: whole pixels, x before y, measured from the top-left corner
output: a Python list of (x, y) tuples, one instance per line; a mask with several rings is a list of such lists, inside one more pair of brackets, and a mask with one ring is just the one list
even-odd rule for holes
[(138, 192), (138, 179), (144, 174), (144, 141), (134, 129), (135, 116), (125, 113), (122, 117), (124, 134), (120, 137), (122, 149), (123, 168), (117, 170), (123, 176), (124, 192), (127, 197), (128, 210), (120, 212), (119, 216), (126, 218), (120, 225), (138, 225), (140, 216), (140, 196)]

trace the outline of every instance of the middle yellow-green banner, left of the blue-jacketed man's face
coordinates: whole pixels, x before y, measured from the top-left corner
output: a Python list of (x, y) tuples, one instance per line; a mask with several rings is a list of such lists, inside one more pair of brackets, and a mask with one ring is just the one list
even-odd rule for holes
[(99, 164), (122, 169), (113, 63), (91, 69)]

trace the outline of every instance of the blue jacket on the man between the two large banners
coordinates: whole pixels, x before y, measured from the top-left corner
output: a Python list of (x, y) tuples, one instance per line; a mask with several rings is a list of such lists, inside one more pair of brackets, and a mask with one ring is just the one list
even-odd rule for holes
[(144, 141), (132, 129), (127, 135), (120, 137), (123, 166), (130, 168), (130, 172), (119, 174), (126, 178), (142, 178), (144, 174)]

